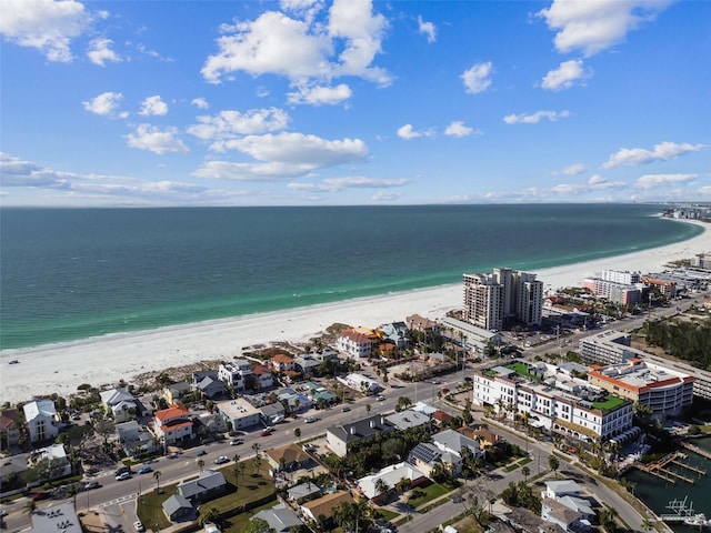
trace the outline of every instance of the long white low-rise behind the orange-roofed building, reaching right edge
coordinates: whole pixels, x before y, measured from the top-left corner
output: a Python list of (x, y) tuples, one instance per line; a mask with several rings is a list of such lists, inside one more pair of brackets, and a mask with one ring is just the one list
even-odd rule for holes
[(617, 330), (602, 331), (580, 341), (580, 356), (589, 363), (602, 365), (624, 364), (631, 359), (639, 359), (657, 365), (668, 372), (692, 375), (693, 395), (711, 400), (711, 372), (697, 369), (680, 361), (670, 361), (651, 353), (632, 348), (631, 335)]

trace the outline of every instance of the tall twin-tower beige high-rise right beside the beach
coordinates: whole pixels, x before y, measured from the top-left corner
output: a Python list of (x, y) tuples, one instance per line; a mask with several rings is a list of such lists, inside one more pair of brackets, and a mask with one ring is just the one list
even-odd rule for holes
[(500, 330), (511, 322), (540, 325), (543, 282), (535, 274), (511, 269), (464, 274), (463, 303), (464, 321), (485, 330)]

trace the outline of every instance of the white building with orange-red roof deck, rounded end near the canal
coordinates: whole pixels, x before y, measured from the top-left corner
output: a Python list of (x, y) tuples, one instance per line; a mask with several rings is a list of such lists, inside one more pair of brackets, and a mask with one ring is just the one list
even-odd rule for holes
[(648, 405), (652, 416), (678, 416), (693, 402), (694, 378), (638, 358), (624, 363), (593, 366), (588, 382), (618, 396)]

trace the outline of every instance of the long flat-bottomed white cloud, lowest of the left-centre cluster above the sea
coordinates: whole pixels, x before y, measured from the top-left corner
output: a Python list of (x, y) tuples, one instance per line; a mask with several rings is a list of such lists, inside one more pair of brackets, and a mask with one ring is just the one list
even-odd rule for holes
[(360, 139), (329, 141), (303, 133), (248, 135), (226, 141), (224, 145), (259, 161), (302, 164), (311, 169), (362, 161), (368, 155), (368, 147)]

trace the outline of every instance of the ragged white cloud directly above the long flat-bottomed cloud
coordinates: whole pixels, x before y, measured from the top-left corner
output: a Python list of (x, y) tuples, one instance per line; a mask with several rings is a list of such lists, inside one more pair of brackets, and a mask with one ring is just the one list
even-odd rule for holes
[[(289, 114), (277, 108), (251, 109), (246, 113), (224, 110), (212, 117), (198, 117), (198, 122), (188, 128), (188, 133), (203, 140), (223, 141), (239, 135), (283, 130), (289, 124)], [(223, 150), (224, 147), (216, 144), (213, 149)]]

